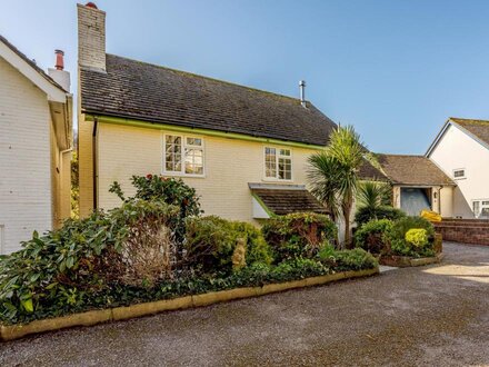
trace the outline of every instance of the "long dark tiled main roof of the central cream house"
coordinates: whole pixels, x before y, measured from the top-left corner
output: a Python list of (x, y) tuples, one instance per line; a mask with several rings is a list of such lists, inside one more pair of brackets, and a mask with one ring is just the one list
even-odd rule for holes
[(107, 54), (81, 68), (83, 112), (325, 146), (336, 123), (299, 99)]

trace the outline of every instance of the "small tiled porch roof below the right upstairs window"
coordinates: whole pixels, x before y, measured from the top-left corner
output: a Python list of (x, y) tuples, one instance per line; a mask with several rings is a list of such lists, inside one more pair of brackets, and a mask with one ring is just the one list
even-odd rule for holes
[(328, 214), (328, 210), (306, 189), (255, 188), (251, 191), (278, 216), (301, 211)]

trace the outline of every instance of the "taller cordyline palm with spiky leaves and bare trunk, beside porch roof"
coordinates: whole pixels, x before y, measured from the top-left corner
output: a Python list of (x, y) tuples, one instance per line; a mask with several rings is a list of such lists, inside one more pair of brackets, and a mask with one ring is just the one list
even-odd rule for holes
[(312, 194), (345, 220), (345, 245), (350, 247), (350, 217), (358, 188), (358, 171), (367, 152), (353, 127), (335, 130), (325, 151), (309, 158), (309, 184)]

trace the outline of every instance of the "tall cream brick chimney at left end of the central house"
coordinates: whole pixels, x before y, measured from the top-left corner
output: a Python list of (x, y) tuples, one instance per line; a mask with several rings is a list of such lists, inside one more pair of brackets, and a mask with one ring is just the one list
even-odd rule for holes
[(78, 7), (78, 65), (106, 71), (106, 12), (93, 2)]

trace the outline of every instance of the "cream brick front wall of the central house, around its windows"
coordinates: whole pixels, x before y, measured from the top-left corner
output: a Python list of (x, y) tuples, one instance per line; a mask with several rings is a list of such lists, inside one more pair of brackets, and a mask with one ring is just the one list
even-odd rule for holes
[[(161, 173), (163, 133), (164, 131), (156, 129), (99, 125), (98, 182), (101, 208), (109, 209), (120, 205), (119, 198), (108, 191), (114, 180), (121, 184), (126, 195), (132, 195), (133, 189), (129, 180), (132, 175)], [(266, 145), (219, 137), (201, 137), (204, 141), (206, 176), (204, 178), (183, 177), (183, 180), (194, 187), (201, 196), (206, 215), (253, 221), (248, 182), (269, 182), (263, 180), (263, 147)], [(81, 137), (80, 143), (82, 143)], [(317, 150), (303, 148), (291, 148), (291, 150), (293, 180), (288, 184), (303, 185), (306, 184), (307, 158)], [(83, 165), (84, 168), (87, 166), (88, 163)], [(87, 179), (83, 182), (83, 185), (89, 185)], [(86, 188), (84, 192), (87, 191)]]

